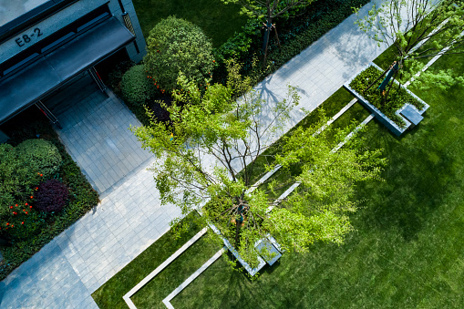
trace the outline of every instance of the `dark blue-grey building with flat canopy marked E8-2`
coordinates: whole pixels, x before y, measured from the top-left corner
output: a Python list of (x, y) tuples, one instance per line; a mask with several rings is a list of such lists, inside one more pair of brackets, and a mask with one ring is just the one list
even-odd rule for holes
[(131, 0), (0, 0), (0, 125), (39, 108), (59, 127), (42, 100), (83, 74), (103, 90), (95, 66), (120, 50), (145, 53)]

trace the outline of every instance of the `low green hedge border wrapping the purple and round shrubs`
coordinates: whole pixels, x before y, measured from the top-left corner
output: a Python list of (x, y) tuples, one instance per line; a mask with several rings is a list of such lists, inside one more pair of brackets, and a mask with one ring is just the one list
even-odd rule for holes
[(72, 160), (65, 147), (58, 139), (57, 133), (46, 120), (22, 126), (8, 142), (18, 145), (23, 140), (34, 139), (39, 134), (41, 139), (46, 139), (55, 144), (63, 159), (59, 170), (59, 178), (69, 189), (69, 202), (63, 209), (47, 218), (46, 228), (36, 236), (22, 242), (14, 242), (11, 247), (0, 247), (4, 256), (4, 263), (0, 265), (0, 280), (11, 273), (21, 263), (26, 262), (34, 253), (38, 252), (46, 243), (53, 240), (59, 233), (65, 231), (80, 217), (98, 204), (98, 193), (93, 190), (86, 177), (82, 174), (77, 163)]

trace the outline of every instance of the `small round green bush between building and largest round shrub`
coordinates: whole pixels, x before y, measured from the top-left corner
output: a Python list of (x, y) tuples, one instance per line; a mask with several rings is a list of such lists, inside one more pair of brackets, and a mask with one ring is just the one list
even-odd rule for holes
[(135, 106), (142, 106), (155, 95), (155, 86), (148, 78), (143, 65), (130, 67), (122, 76), (122, 96)]

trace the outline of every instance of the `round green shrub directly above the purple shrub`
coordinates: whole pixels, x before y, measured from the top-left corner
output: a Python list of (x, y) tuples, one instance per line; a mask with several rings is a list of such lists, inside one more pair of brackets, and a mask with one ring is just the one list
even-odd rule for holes
[(53, 177), (61, 167), (62, 158), (57, 146), (45, 139), (26, 139), (16, 146), (18, 159), (32, 171)]

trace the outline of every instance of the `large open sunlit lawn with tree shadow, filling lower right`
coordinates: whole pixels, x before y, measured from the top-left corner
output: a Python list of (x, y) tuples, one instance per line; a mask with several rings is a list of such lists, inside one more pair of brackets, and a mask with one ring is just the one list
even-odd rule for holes
[[(464, 72), (464, 57), (453, 64)], [(285, 253), (254, 282), (219, 260), (172, 301), (174, 307), (462, 307), (462, 92), (416, 89), (430, 108), (402, 138), (375, 121), (368, 125), (369, 145), (384, 148), (389, 164), (385, 181), (359, 187), (366, 208), (353, 216), (357, 231), (344, 245), (317, 243), (305, 254)]]

